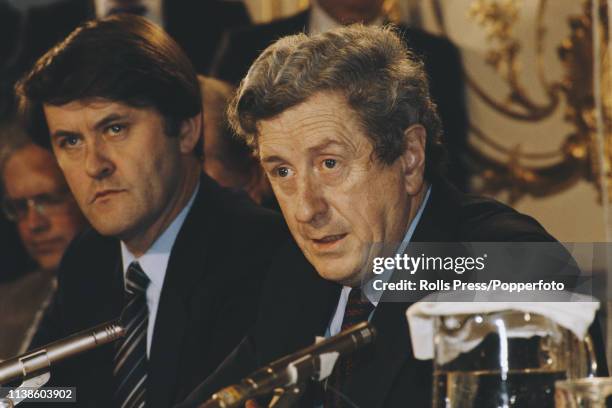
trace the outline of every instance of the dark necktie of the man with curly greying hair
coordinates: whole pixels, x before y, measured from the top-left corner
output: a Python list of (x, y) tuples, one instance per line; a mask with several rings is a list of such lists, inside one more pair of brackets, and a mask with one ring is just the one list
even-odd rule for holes
[[(342, 330), (367, 321), (370, 314), (374, 310), (374, 305), (366, 298), (363, 298), (360, 288), (351, 289), (349, 294), (346, 309), (344, 310), (344, 319), (342, 320)], [(334, 371), (327, 379), (326, 389), (324, 391), (324, 407), (325, 408), (341, 408), (349, 407), (338, 391), (348, 382), (351, 374), (361, 364), (367, 350), (358, 350), (352, 354), (340, 357), (336, 361)]]

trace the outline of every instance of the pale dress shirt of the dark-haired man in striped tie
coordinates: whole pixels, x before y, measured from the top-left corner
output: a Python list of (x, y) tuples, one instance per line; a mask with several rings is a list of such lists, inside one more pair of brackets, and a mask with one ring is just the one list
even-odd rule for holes
[(151, 353), (151, 341), (153, 340), (153, 328), (155, 327), (155, 318), (157, 317), (157, 307), (159, 306), (159, 298), (161, 296), (161, 290), (164, 286), (164, 278), (166, 277), (166, 268), (168, 267), (168, 260), (170, 259), (170, 252), (176, 236), (178, 235), (185, 217), (193, 201), (195, 200), (196, 193), (198, 192), (200, 185), (195, 188), (191, 198), (187, 202), (187, 205), (181, 210), (176, 216), (174, 221), (166, 228), (166, 230), (157, 238), (157, 240), (151, 245), (151, 248), (147, 250), (140, 258), (136, 258), (127, 246), (121, 241), (121, 259), (123, 261), (123, 277), (125, 281), (125, 275), (127, 273), (128, 266), (133, 261), (137, 261), (140, 264), (143, 272), (147, 275), (149, 280), (149, 286), (147, 287), (147, 307), (149, 309), (149, 324), (147, 326), (147, 357)]

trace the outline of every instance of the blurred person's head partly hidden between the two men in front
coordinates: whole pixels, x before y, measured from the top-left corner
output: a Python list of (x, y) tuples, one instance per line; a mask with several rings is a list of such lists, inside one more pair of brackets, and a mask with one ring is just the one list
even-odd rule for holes
[(222, 186), (243, 190), (257, 204), (278, 209), (258, 160), (227, 120), (226, 109), (234, 88), (210, 77), (201, 76), (199, 80), (204, 105), (203, 170)]

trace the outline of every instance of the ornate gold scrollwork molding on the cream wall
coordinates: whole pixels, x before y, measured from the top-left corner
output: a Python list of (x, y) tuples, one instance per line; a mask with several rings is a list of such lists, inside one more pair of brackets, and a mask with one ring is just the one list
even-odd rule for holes
[[(612, 68), (607, 4), (606, 0), (583, 0), (583, 13), (568, 18), (570, 34), (558, 47), (564, 74), (561, 79), (550, 81), (546, 77), (543, 57), (547, 32), (544, 16), (548, 2), (539, 0), (533, 42), (536, 60), (534, 66), (528, 67), (535, 70), (538, 84), (546, 95), (545, 102), (538, 103), (521, 80), (525, 71), (519, 63), (519, 56), (523, 47), (529, 44), (521, 43), (514, 33), (523, 2), (472, 1), (468, 16), (486, 34), (485, 62), (509, 91), (503, 100), (495, 99), (466, 73), (468, 87), (495, 112), (516, 121), (540, 122), (563, 105), (564, 120), (573, 128), (559, 149), (530, 153), (523, 151), (520, 145), (502, 146), (472, 123), (474, 139), (495, 152), (494, 158), (476, 144), (470, 145), (468, 161), (478, 174), (477, 190), (483, 193), (508, 190), (510, 201), (516, 201), (525, 194), (555, 194), (580, 179), (586, 179), (597, 186), (601, 198), (602, 189), (612, 185), (608, 182), (612, 178)], [(431, 5), (437, 25), (448, 35), (440, 0), (431, 0)], [(598, 55), (594, 54), (594, 48), (600, 50)], [(600, 68), (597, 78), (593, 76), (595, 68)], [(598, 86), (597, 92), (595, 85)], [(535, 136), (525, 136), (525, 141), (529, 137)], [(550, 164), (551, 160), (553, 164)], [(546, 164), (539, 165), (538, 162)], [(603, 195), (612, 197), (612, 194)]]

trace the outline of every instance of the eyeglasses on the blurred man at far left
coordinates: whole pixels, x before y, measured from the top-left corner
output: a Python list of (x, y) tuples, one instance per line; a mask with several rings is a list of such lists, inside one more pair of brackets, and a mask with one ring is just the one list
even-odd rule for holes
[(68, 190), (54, 193), (38, 194), (30, 198), (19, 198), (11, 200), (5, 197), (2, 200), (2, 210), (6, 218), (13, 222), (22, 221), (28, 216), (28, 211), (33, 208), (40, 215), (53, 215), (64, 212), (66, 203), (71, 199)]

